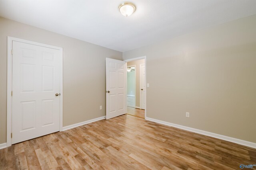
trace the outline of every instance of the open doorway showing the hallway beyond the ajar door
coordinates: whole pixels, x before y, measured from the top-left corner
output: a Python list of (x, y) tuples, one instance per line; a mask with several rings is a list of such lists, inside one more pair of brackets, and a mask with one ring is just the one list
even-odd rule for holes
[[(141, 59), (142, 58), (142, 59)], [(145, 58), (127, 62), (127, 111), (126, 114), (145, 119), (146, 109), (146, 67)]]

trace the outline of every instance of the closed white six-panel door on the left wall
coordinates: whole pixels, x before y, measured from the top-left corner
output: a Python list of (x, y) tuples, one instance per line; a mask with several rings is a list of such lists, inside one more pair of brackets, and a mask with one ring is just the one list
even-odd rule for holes
[(60, 130), (60, 50), (12, 41), (12, 144)]

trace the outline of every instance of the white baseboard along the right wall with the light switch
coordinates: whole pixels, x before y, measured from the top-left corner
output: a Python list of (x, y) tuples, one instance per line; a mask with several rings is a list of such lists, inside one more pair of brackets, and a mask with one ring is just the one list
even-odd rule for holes
[(229, 141), (229, 142), (237, 143), (237, 144), (240, 144), (240, 145), (244, 145), (246, 147), (251, 147), (251, 148), (256, 149), (256, 143), (253, 143), (253, 142), (244, 141), (244, 140), (236, 139), (236, 138), (233, 138), (233, 137), (227, 137), (227, 136), (219, 135), (219, 134), (212, 133), (212, 132), (202, 131), (202, 130), (194, 129), (194, 128), (191, 128), (191, 127), (177, 125), (177, 124), (174, 124), (174, 123), (161, 121), (161, 120), (153, 119), (153, 118), (150, 118), (150, 117), (146, 117), (145, 119), (148, 120), (148, 121), (153, 121), (153, 122), (160, 123), (160, 124), (163, 124), (163, 125), (176, 127), (176, 128), (183, 129), (183, 130), (186, 130), (186, 131), (199, 133), (201, 135), (206, 135), (206, 136), (214, 137), (214, 138), (217, 138), (217, 139), (222, 139), (224, 141)]

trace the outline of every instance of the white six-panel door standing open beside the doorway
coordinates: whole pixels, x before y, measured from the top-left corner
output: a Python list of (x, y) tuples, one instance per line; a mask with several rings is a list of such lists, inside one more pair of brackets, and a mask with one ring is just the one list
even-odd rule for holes
[(106, 119), (126, 113), (126, 62), (106, 58)]

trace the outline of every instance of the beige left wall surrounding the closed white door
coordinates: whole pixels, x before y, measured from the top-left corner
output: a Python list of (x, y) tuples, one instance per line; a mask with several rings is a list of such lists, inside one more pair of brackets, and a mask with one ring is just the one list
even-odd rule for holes
[(121, 52), (0, 18), (0, 144), (6, 142), (7, 36), (63, 47), (64, 126), (106, 115), (105, 60), (122, 60)]

